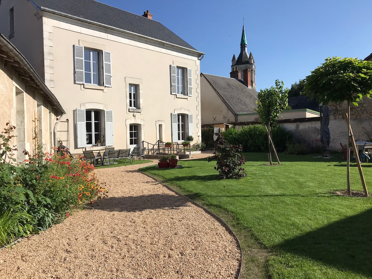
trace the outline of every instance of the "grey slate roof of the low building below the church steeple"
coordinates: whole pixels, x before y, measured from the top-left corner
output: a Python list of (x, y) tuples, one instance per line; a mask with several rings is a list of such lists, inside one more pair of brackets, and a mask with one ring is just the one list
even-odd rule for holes
[(248, 88), (243, 80), (202, 73), (233, 113), (250, 113), (257, 108), (258, 92)]

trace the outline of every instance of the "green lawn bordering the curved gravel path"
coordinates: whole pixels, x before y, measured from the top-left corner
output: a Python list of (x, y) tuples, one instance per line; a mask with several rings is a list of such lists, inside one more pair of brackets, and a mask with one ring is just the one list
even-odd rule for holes
[[(250, 235), (268, 248), (266, 272), (272, 278), (372, 278), (371, 198), (332, 193), (346, 190), (343, 154), (323, 159), (281, 153), (281, 166), (265, 165), (266, 153), (244, 155), (247, 177), (240, 180), (220, 180), (215, 162), (205, 159), (182, 161), (181, 169), (141, 171), (231, 217), (232, 229), (243, 230), (240, 241)], [(362, 167), (372, 191), (372, 164)], [(355, 163), (350, 181), (353, 190), (362, 190)]]

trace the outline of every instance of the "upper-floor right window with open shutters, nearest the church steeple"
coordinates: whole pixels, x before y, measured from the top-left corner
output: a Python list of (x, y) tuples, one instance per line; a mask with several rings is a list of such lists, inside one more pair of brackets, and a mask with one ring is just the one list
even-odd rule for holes
[(192, 96), (192, 69), (170, 65), (170, 93)]

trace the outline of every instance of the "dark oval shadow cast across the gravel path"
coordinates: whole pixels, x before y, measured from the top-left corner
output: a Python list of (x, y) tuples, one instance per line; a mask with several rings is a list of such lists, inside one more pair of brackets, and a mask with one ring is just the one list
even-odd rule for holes
[(169, 194), (153, 194), (144, 196), (110, 197), (96, 201), (94, 209), (118, 212), (137, 212), (146, 209), (177, 209), (187, 205), (185, 198)]

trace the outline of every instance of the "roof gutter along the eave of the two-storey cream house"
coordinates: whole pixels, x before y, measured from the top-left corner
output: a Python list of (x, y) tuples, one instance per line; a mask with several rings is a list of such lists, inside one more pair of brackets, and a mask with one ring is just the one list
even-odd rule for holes
[(140, 37), (140, 38), (147, 39), (147, 40), (150, 40), (150, 41), (154, 41), (154, 42), (158, 42), (158, 43), (161, 43), (161, 44), (166, 44), (166, 45), (170, 45), (172, 47), (176, 47), (176, 48), (180, 48), (180, 49), (183, 49), (183, 50), (187, 50), (189, 52), (195, 53), (197, 57), (201, 57), (201, 56), (203, 56), (205, 54), (203, 52), (196, 51), (196, 50), (191, 49), (191, 48), (182, 47), (180, 45), (172, 44), (170, 42), (161, 41), (159, 39), (155, 39), (155, 38), (151, 38), (151, 37), (148, 37), (148, 36), (145, 36), (145, 35), (137, 34), (137, 33), (134, 33), (134, 32), (128, 31), (128, 30), (120, 29), (120, 28), (113, 27), (113, 26), (110, 26), (110, 25), (106, 25), (106, 24), (103, 24), (103, 23), (99, 23), (99, 22), (96, 22), (96, 21), (93, 21), (93, 20), (84, 19), (82, 17), (69, 15), (68, 13), (58, 12), (56, 10), (52, 10), (52, 9), (45, 8), (45, 7), (41, 7), (39, 10), (41, 10), (42, 12), (48, 12), (48, 13), (52, 13), (54, 15), (68, 17), (70, 19), (75, 19), (75, 20), (78, 20), (78, 21), (81, 21), (81, 22), (85, 22), (85, 23), (88, 23), (88, 24), (97, 25), (97, 26), (100, 26), (100, 27), (103, 27), (103, 28), (112, 29), (112, 30), (115, 30), (115, 31), (118, 31), (118, 32), (121, 32), (121, 33), (126, 33), (126, 34), (129, 34), (129, 35), (132, 35), (132, 36)]

